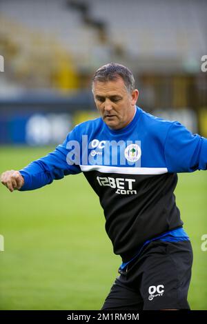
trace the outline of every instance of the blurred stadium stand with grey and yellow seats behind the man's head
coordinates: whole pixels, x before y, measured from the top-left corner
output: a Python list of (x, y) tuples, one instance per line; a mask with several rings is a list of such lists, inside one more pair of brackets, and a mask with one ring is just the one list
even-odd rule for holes
[(117, 61), (135, 74), (139, 105), (184, 112), (206, 134), (206, 12), (206, 0), (1, 0), (0, 113), (92, 110), (92, 73)]

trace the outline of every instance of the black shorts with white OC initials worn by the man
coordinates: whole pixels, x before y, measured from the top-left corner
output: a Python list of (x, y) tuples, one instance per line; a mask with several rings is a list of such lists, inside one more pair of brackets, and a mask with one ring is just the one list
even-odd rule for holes
[(119, 270), (101, 310), (190, 310), (193, 251), (190, 241), (152, 241)]

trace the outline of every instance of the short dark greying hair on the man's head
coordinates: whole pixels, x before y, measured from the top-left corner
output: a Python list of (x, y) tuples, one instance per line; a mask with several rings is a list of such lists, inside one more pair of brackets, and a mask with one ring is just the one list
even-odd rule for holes
[(107, 82), (116, 81), (117, 79), (123, 79), (124, 84), (128, 92), (135, 90), (135, 79), (132, 72), (126, 68), (126, 66), (118, 63), (108, 63), (99, 68), (92, 78), (92, 92), (94, 89), (95, 81)]

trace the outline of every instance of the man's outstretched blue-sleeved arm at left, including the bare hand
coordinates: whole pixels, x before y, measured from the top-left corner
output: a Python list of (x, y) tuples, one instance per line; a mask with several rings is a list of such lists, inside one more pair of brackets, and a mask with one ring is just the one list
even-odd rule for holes
[(79, 165), (68, 163), (66, 148), (68, 141), (74, 140), (74, 132), (68, 134), (66, 140), (58, 145), (55, 151), (50, 152), (37, 161), (32, 161), (26, 168), (15, 171), (10, 170), (1, 174), (1, 183), (6, 185), (10, 192), (14, 190), (34, 190), (52, 183), (53, 180), (62, 179), (68, 174), (81, 172)]

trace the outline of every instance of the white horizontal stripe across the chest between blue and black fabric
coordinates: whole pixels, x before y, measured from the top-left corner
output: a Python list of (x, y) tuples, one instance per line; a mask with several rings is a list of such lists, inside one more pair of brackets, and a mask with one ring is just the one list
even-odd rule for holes
[(81, 171), (99, 171), (102, 173), (120, 173), (120, 174), (164, 174), (168, 172), (167, 168), (123, 168), (111, 167), (106, 165), (80, 165)]

